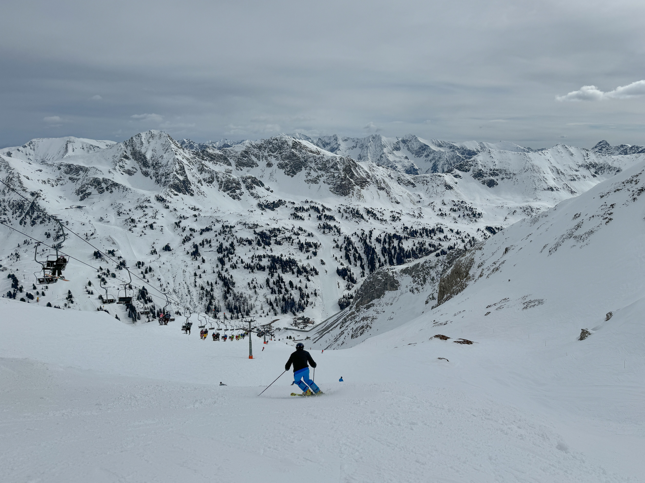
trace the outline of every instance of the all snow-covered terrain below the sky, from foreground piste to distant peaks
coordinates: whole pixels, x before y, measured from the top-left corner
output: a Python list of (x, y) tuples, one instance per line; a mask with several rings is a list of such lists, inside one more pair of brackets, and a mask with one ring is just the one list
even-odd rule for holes
[[(644, 147), (146, 131), (0, 180), (2, 481), (645, 481)], [(324, 395), (258, 397), (297, 341)]]

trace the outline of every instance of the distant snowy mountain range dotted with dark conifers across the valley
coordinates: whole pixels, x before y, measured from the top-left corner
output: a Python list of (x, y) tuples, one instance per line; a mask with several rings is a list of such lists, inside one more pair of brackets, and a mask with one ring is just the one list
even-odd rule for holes
[[(52, 285), (43, 301), (67, 303), (71, 290), (74, 308), (101, 305), (98, 290), (84, 298), (97, 275), (82, 261), (101, 267), (109, 295), (121, 269), (136, 265), (145, 282), (135, 285), (147, 284), (157, 310), (167, 292), (177, 305), (211, 314), (320, 321), (348, 307), (379, 268), (405, 274), (415, 261), (424, 263), (423, 308), (431, 307), (425, 301), (436, 299), (454, 254), (643, 156), (642, 148), (604, 142), (535, 151), (412, 135), (280, 135), (237, 144), (176, 142), (163, 131), (119, 143), (39, 138), (0, 150), (2, 180), (29, 200), (3, 185), (0, 209), (3, 222), (37, 240), (60, 236), (41, 207), (86, 242), (114, 251), (114, 261), (97, 259), (90, 245), (68, 236), (63, 251), (80, 261), (66, 271), (72, 281)], [(21, 284), (31, 287), (33, 242), (1, 231), (0, 263), (27, 270)], [(358, 332), (361, 340), (372, 333)]]

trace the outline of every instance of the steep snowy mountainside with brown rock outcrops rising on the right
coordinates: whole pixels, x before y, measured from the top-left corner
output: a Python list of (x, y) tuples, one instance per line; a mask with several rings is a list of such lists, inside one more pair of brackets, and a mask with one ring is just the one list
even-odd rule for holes
[[(428, 278), (437, 272), (432, 260), (378, 270), (357, 290), (350, 307), (315, 330), (313, 341), (324, 347), (357, 345), (399, 327), (401, 320), (427, 324), (426, 312), (437, 330), (458, 314), (472, 323), (506, 314), (511, 330), (517, 320), (533, 312), (544, 317), (546, 310), (548, 317), (585, 325), (573, 334), (567, 323), (571, 337), (582, 328), (593, 334), (604, 327), (600, 315), (617, 314), (642, 298), (637, 263), (642, 233), (633, 223), (642, 222), (644, 169), (640, 160), (581, 196), (526, 217), (474, 249), (455, 252), (452, 260), (449, 255), (438, 283)], [(622, 240), (620, 249), (613, 240)], [(524, 312), (541, 305), (546, 307)]]

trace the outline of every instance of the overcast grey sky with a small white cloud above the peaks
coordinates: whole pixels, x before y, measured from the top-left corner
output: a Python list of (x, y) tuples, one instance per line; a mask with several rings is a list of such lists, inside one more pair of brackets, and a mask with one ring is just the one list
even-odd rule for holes
[(2, 17), (0, 146), (146, 129), (645, 145), (642, 0), (5, 0)]

